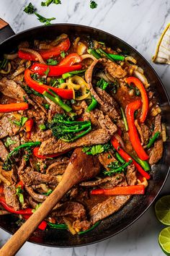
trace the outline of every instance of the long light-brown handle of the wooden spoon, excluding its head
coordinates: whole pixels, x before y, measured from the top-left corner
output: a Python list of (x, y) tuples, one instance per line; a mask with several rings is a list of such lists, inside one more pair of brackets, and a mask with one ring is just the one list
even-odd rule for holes
[(1, 256), (12, 256), (15, 255), (18, 250), (22, 247), (24, 242), (27, 241), (29, 236), (32, 234), (37, 226), (44, 220), (44, 218), (48, 215), (50, 210), (54, 208), (56, 203), (61, 200), (61, 197), (70, 189), (72, 184), (65, 184), (63, 186), (63, 182), (58, 184), (49, 195), (49, 197), (42, 203), (40, 208), (38, 208), (35, 213), (17, 230), (17, 232), (9, 239), (6, 244), (0, 249)]

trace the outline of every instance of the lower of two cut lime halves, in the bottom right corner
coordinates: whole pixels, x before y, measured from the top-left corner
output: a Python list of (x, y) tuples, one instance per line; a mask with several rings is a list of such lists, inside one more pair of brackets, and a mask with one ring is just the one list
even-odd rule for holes
[(170, 226), (159, 233), (158, 242), (164, 253), (170, 256)]

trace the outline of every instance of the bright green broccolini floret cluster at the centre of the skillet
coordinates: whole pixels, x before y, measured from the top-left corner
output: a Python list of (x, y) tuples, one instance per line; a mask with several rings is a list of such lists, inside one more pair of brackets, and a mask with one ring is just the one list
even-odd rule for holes
[(72, 142), (91, 131), (91, 121), (72, 121), (69, 116), (55, 114), (49, 127), (54, 137)]

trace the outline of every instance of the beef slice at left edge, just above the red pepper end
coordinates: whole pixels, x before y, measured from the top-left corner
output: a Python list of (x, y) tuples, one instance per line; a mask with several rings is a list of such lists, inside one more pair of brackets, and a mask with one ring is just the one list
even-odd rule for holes
[(17, 85), (13, 80), (8, 80), (6, 77), (0, 81), (0, 91), (4, 95), (20, 102), (24, 102), (25, 99), (28, 99), (27, 93), (25, 93), (21, 86)]

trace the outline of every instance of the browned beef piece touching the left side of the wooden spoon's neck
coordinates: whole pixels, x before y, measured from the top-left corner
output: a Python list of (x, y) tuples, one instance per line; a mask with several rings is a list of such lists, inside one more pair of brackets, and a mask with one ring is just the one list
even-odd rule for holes
[(58, 179), (55, 176), (50, 176), (50, 174), (41, 174), (30, 167), (27, 167), (24, 170), (19, 170), (18, 175), (19, 179), (22, 180), (27, 187), (41, 183), (52, 184), (55, 186), (58, 185)]

